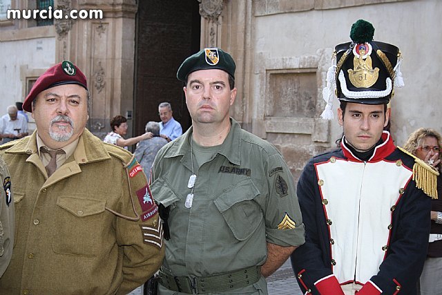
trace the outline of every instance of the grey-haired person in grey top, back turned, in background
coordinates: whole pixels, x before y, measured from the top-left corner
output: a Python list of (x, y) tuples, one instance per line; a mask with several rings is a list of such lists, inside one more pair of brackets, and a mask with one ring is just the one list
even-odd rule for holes
[(135, 158), (141, 164), (145, 173), (151, 171), (155, 155), (167, 143), (167, 140), (160, 137), (160, 124), (157, 122), (148, 122), (146, 124), (146, 133), (152, 133), (153, 137), (150, 140), (138, 142), (137, 149), (135, 149)]

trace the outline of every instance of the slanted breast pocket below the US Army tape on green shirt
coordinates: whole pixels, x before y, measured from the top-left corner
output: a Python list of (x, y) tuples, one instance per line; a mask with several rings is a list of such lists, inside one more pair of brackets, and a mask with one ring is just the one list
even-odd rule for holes
[(256, 185), (245, 179), (213, 201), (237, 240), (247, 240), (263, 222), (261, 207), (254, 200), (259, 195)]

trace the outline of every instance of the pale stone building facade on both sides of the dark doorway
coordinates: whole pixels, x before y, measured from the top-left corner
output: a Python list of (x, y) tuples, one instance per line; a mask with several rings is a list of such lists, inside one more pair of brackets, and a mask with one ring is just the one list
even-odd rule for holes
[[(195, 0), (202, 17), (201, 48), (218, 46), (236, 60), (238, 97), (231, 115), (269, 140), (298, 178), (312, 155), (331, 149), (342, 133), (336, 119), (319, 118), (322, 89), (336, 44), (350, 41), (357, 19), (373, 23), (374, 39), (403, 54), (405, 88), (392, 100), (392, 134), (403, 144), (415, 129), (442, 131), (439, 60), (442, 1)], [(27, 0), (12, 1), (26, 7)], [(46, 68), (70, 59), (84, 70), (93, 96), (89, 126), (133, 108), (135, 0), (57, 0), (64, 9), (99, 8), (103, 20), (60, 21), (32, 27), (0, 21), (0, 113), (23, 100)], [(335, 101), (334, 113), (338, 102)], [(128, 134), (131, 134), (129, 130)]]

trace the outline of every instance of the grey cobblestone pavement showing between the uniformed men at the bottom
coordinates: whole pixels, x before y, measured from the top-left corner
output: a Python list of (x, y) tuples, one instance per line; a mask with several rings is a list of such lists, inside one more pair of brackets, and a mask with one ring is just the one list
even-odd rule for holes
[[(295, 276), (291, 270), (290, 260), (287, 260), (274, 274), (267, 278), (269, 295), (300, 295), (302, 294)], [(139, 287), (129, 295), (142, 295), (142, 287)]]

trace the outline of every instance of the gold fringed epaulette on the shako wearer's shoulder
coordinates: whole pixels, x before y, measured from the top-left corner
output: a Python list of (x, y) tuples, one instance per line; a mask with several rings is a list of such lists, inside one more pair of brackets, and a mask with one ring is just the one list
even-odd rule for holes
[(398, 149), (414, 158), (413, 180), (416, 181), (416, 187), (422, 189), (431, 198), (437, 199), (437, 177), (439, 172), (433, 166), (425, 163), (425, 161), (405, 151), (401, 146), (398, 146)]

